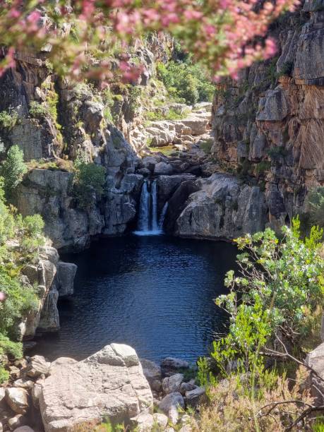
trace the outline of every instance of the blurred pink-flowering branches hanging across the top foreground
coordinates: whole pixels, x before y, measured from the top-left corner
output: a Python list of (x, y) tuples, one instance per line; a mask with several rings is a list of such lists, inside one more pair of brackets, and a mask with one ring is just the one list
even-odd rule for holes
[[(50, 47), (48, 62), (56, 72), (78, 79), (112, 77), (114, 47), (119, 72), (132, 80), (142, 67), (131, 64), (135, 40), (150, 32), (169, 32), (195, 61), (215, 76), (236, 77), (240, 68), (272, 56), (275, 43), (268, 25), (296, 0), (65, 0), (1, 1), (0, 44), (6, 47), (0, 70), (14, 66), (17, 49)], [(263, 42), (260, 42), (260, 37)], [(257, 40), (258, 38), (258, 40)], [(89, 66), (89, 65), (94, 66)]]

